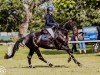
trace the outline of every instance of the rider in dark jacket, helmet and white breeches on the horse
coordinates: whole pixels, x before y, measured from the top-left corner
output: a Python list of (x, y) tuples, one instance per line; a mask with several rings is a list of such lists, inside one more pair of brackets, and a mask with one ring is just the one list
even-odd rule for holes
[(58, 23), (54, 20), (53, 8), (47, 7), (47, 14), (45, 15), (45, 28), (53, 38), (54, 38), (54, 32), (52, 28), (56, 26), (58, 26)]

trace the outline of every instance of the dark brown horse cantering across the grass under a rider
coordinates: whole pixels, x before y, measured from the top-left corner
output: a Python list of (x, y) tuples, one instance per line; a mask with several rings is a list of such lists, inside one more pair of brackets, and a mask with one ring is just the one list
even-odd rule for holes
[[(71, 28), (73, 25), (70, 26)], [(66, 53), (69, 54), (68, 63), (73, 60), (75, 64), (78, 66), (81, 66), (82, 64), (76, 60), (76, 58), (73, 56), (72, 51), (70, 50), (68, 46), (68, 30), (63, 27), (56, 27), (53, 28), (55, 37), (52, 38), (51, 35), (46, 31), (40, 31), (40, 32), (33, 32), (25, 37), (20, 38), (16, 41), (14, 44), (14, 47), (12, 49), (11, 55), (5, 54), (4, 58), (9, 59), (12, 58), (16, 51), (19, 49), (20, 45), (26, 45), (29, 48), (29, 54), (27, 56), (28, 58), (28, 64), (29, 67), (32, 68), (31, 59), (34, 54), (34, 52), (37, 54), (38, 58), (47, 63), (48, 66), (53, 67), (53, 64), (48, 62), (44, 57), (42, 56), (39, 48), (45, 48), (45, 49), (57, 49), (57, 50), (64, 50)]]

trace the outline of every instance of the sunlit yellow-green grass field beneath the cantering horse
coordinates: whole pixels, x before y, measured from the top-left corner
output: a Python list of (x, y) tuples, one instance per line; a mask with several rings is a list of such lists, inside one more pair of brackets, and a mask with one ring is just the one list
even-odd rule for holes
[(28, 68), (27, 48), (20, 48), (10, 60), (4, 59), (6, 52), (7, 47), (0, 46), (0, 66), (5, 67), (5, 75), (100, 75), (100, 54), (74, 54), (83, 65), (78, 67), (73, 61), (67, 62), (68, 55), (63, 51), (41, 49), (44, 58), (53, 63), (54, 67), (48, 67), (34, 54), (32, 65), (36, 68)]

